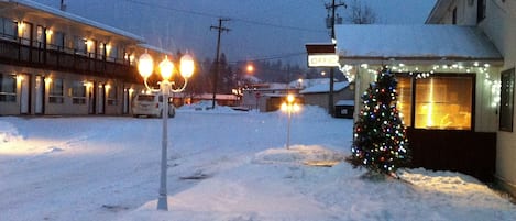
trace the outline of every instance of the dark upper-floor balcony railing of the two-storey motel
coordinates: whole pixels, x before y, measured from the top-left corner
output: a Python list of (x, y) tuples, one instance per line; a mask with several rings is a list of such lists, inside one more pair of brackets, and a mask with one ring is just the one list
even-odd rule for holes
[(44, 45), (30, 46), (21, 41), (0, 38), (0, 63), (127, 81), (139, 79), (136, 68), (130, 65), (129, 60), (56, 48), (46, 48)]

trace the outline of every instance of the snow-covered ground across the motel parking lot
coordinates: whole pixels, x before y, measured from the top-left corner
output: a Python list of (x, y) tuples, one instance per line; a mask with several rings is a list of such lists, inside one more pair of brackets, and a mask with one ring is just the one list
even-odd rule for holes
[[(352, 121), (178, 110), (169, 120), (168, 207), (156, 211), (161, 119), (0, 118), (0, 220), (516, 220), (476, 179), (404, 169), (364, 178), (342, 159)], [(332, 163), (332, 167), (312, 166)]]

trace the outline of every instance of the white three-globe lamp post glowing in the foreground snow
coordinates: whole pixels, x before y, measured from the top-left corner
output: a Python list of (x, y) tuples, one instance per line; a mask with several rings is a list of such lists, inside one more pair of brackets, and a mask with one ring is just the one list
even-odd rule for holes
[(154, 62), (146, 52), (142, 54), (138, 60), (138, 71), (143, 77), (143, 81), (147, 90), (153, 92), (161, 92), (163, 96), (163, 109), (162, 109), (162, 118), (163, 118), (163, 134), (162, 134), (162, 163), (161, 163), (161, 174), (160, 174), (160, 195), (157, 197), (157, 209), (158, 210), (168, 210), (167, 203), (167, 194), (166, 194), (166, 151), (167, 151), (167, 143), (168, 143), (168, 96), (172, 92), (182, 92), (185, 90), (186, 85), (188, 82), (188, 78), (191, 77), (194, 74), (194, 59), (188, 54), (184, 55), (180, 58), (180, 67), (179, 73), (182, 77), (185, 79), (185, 84), (180, 88), (172, 88), (173, 82), (168, 81), (168, 79), (174, 75), (174, 64), (168, 60), (168, 57), (165, 58), (158, 65), (160, 74), (163, 78), (160, 81), (160, 89), (151, 88), (147, 84), (149, 77), (152, 75), (154, 70)]

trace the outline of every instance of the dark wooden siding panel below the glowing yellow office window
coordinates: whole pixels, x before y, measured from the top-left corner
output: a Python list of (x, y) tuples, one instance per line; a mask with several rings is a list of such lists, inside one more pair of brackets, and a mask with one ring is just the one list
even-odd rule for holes
[(493, 181), (496, 133), (408, 130), (413, 167), (461, 172), (482, 181)]

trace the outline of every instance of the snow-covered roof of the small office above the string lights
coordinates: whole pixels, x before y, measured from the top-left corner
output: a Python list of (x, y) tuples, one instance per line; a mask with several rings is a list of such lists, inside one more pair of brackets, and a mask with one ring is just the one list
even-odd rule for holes
[(474, 26), (348, 24), (338, 25), (336, 34), (337, 49), (344, 60), (503, 60)]

